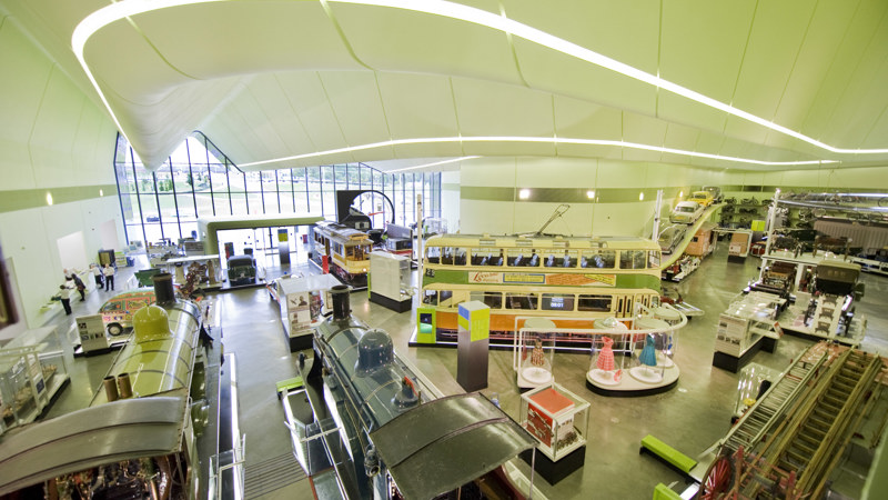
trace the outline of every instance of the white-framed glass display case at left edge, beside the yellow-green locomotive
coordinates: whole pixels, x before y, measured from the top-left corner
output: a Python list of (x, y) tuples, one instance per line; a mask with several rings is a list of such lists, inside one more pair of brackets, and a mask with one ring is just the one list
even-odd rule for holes
[(0, 348), (0, 408), (4, 428), (37, 420), (68, 382), (56, 328), (29, 330)]

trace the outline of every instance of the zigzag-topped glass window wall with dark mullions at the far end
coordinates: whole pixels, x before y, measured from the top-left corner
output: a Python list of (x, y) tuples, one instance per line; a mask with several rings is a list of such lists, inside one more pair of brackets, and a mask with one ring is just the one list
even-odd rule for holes
[(385, 173), (363, 163), (241, 171), (215, 144), (194, 132), (157, 171), (147, 170), (125, 138), (118, 136), (114, 169), (127, 240), (178, 241), (198, 230), (199, 218), (312, 213), (334, 220), (335, 192), (374, 189), (362, 209), (374, 228), (392, 220), (416, 222), (416, 194), (423, 217), (441, 217), (441, 173)]

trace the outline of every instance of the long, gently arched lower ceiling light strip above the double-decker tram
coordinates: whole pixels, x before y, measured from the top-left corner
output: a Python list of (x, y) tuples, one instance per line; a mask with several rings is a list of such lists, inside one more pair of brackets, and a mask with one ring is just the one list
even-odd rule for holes
[[(389, 148), (405, 144), (432, 144), (432, 143), (463, 143), (463, 142), (532, 142), (532, 143), (551, 143), (556, 144), (578, 144), (578, 146), (610, 146), (616, 148), (629, 148), (645, 151), (656, 151), (662, 153), (682, 154), (695, 158), (707, 158), (712, 160), (724, 160), (738, 163), (761, 164), (769, 167), (793, 167), (804, 164), (828, 164), (838, 163), (833, 160), (806, 160), (806, 161), (763, 161), (754, 160), (751, 158), (727, 157), (722, 154), (710, 154), (698, 151), (686, 151), (683, 149), (664, 148), (660, 146), (642, 144), (638, 142), (614, 141), (605, 139), (571, 139), (571, 138), (552, 138), (552, 137), (514, 137), (514, 136), (478, 136), (478, 137), (430, 137), (430, 138), (415, 138), (415, 139), (394, 139), (390, 141), (371, 142), (367, 144), (353, 146), (350, 148), (337, 148), (326, 151), (317, 151), (305, 154), (294, 154), (291, 157), (274, 158), (271, 160), (253, 161), (250, 163), (241, 163), (240, 167), (260, 167), (271, 163), (280, 163), (282, 161), (305, 160), (309, 158), (320, 158), (327, 154), (351, 153), (355, 151), (364, 151), (369, 149)], [(475, 157), (476, 158), (476, 157)]]

